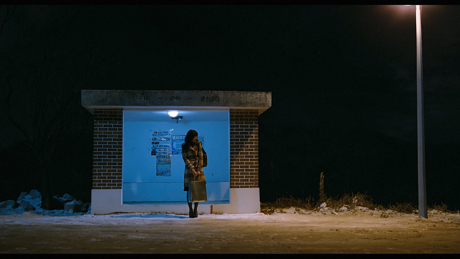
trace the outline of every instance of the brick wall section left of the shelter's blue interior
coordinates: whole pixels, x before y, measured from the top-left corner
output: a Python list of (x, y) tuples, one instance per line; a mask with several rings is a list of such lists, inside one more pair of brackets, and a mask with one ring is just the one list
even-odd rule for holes
[(121, 189), (122, 109), (94, 109), (93, 189)]

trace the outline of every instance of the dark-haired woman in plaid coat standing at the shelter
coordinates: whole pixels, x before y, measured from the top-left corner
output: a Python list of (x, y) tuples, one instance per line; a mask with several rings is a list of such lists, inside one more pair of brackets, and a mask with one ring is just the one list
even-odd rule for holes
[(184, 171), (184, 191), (187, 192), (187, 203), (189, 204), (189, 217), (198, 217), (198, 202), (195, 202), (195, 208), (192, 209), (192, 203), (189, 202), (189, 181), (206, 181), (203, 172), (203, 152), (201, 142), (198, 142), (198, 132), (189, 130), (182, 144), (182, 159), (185, 163)]

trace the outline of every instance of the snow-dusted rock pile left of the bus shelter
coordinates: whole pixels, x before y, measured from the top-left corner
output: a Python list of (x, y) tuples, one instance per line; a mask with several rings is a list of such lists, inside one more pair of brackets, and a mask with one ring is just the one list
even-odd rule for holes
[(25, 212), (35, 213), (43, 216), (80, 216), (90, 214), (91, 203), (83, 204), (81, 200), (76, 200), (69, 194), (63, 197), (55, 195), (53, 197), (62, 203), (63, 210), (45, 210), (41, 208), (41, 194), (37, 190), (30, 193), (23, 192), (16, 201), (6, 200), (0, 202), (0, 215), (23, 214)]

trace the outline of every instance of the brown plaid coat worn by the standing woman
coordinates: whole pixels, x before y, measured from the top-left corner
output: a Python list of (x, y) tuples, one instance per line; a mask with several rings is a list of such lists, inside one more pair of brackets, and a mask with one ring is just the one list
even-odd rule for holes
[[(182, 144), (184, 147), (185, 143)], [(206, 181), (203, 172), (203, 152), (201, 151), (201, 142), (189, 147), (187, 150), (182, 149), (182, 159), (185, 163), (184, 187), (189, 187), (189, 181)], [(201, 172), (196, 177), (193, 176), (192, 169)]]

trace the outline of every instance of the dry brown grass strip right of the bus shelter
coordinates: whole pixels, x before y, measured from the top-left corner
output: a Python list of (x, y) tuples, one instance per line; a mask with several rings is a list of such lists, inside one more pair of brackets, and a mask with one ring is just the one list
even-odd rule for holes
[[(337, 197), (330, 197), (326, 196), (322, 201), (320, 200), (315, 200), (313, 197), (308, 197), (306, 199), (298, 199), (294, 198), (292, 195), (289, 197), (281, 197), (276, 199), (274, 202), (265, 202), (260, 204), (260, 211), (264, 214), (270, 215), (275, 213), (276, 211), (278, 212), (283, 212), (283, 209), (288, 209), (288, 208), (298, 208), (298, 209), (303, 209), (306, 211), (318, 211), (319, 206), (322, 204), (322, 202), (326, 202), (326, 205), (329, 208), (335, 209), (336, 211), (339, 211), (340, 208), (342, 207), (347, 207), (350, 210), (355, 209), (357, 206), (362, 206), (362, 207), (367, 207), (371, 210), (373, 209), (379, 209), (382, 211), (386, 210), (392, 210), (395, 212), (402, 212), (402, 213), (416, 213), (416, 210), (418, 209), (418, 206), (414, 206), (412, 203), (396, 203), (396, 205), (387, 205), (383, 206), (380, 204), (375, 204), (372, 200), (372, 198), (366, 194), (343, 194), (341, 196)], [(431, 210), (437, 210), (440, 212), (450, 212), (450, 213), (456, 213), (449, 211), (447, 209), (447, 205), (441, 204), (437, 205), (434, 204), (432, 206), (428, 207), (428, 211)]]

